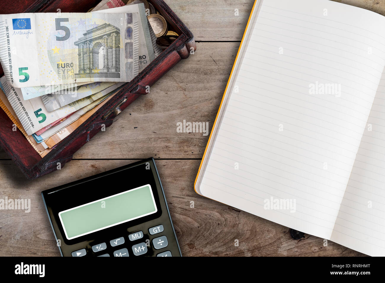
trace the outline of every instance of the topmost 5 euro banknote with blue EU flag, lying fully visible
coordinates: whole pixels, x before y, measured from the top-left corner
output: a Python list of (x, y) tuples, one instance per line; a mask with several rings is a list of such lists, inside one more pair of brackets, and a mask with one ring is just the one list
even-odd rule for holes
[(15, 88), (129, 82), (139, 72), (138, 17), (126, 12), (0, 15), (5, 77)]

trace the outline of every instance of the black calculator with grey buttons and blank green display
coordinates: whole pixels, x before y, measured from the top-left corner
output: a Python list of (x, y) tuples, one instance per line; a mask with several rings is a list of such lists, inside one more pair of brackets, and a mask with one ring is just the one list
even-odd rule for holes
[(62, 256), (182, 256), (154, 158), (42, 196)]

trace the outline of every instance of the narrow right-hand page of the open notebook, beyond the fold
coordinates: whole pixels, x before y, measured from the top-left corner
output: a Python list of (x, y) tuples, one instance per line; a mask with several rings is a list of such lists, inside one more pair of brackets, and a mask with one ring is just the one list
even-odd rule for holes
[(371, 256), (385, 255), (385, 69), (331, 235)]

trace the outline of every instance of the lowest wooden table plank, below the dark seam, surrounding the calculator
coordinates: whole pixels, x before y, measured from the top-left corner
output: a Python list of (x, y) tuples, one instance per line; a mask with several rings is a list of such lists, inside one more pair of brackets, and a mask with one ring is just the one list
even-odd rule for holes
[[(72, 160), (70, 166), (38, 180), (15, 178), (16, 165), (0, 161), (0, 196), (29, 198), (31, 211), (0, 213), (0, 256), (60, 256), (40, 192), (126, 165), (133, 160)], [(175, 231), (184, 256), (357, 256), (331, 241), (305, 235), (293, 240), (289, 228), (209, 200), (192, 189), (199, 160), (156, 160)], [(68, 165), (69, 165), (68, 164)], [(191, 208), (194, 201), (194, 208)], [(239, 246), (235, 246), (235, 240)]]

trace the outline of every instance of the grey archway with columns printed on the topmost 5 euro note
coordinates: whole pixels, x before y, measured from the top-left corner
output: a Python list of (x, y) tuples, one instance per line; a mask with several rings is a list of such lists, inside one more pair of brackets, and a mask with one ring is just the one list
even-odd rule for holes
[(120, 29), (104, 23), (91, 28), (74, 44), (79, 71), (75, 77), (120, 78)]

